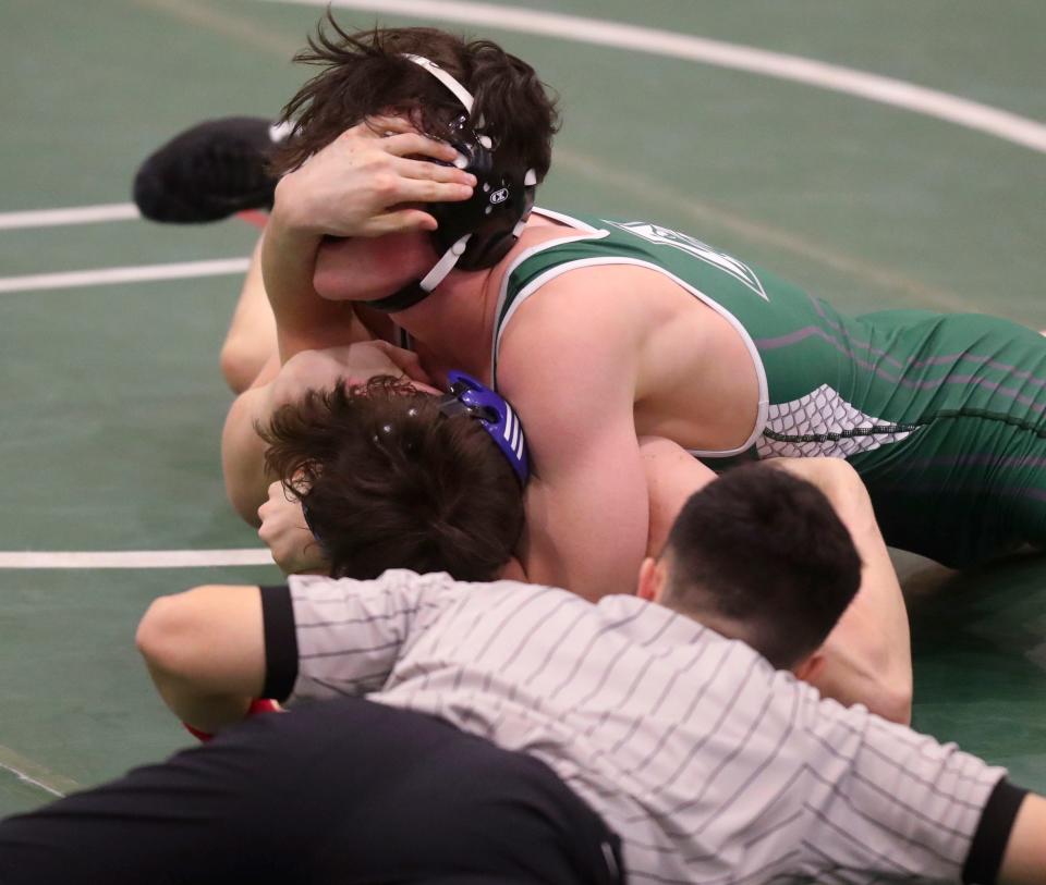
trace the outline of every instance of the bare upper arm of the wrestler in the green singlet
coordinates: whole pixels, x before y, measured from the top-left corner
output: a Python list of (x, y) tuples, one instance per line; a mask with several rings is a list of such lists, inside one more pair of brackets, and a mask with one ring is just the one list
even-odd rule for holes
[(635, 334), (584, 294), (547, 297), (521, 308), (499, 369), (535, 475), (524, 567), (531, 580), (588, 599), (632, 592), (648, 520), (633, 417)]

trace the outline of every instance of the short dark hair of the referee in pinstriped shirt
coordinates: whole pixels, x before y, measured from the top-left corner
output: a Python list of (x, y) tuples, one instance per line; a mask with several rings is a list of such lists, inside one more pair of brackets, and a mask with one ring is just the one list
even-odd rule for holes
[(661, 601), (788, 669), (824, 642), (861, 585), (828, 499), (769, 465), (727, 471), (685, 504), (665, 548)]

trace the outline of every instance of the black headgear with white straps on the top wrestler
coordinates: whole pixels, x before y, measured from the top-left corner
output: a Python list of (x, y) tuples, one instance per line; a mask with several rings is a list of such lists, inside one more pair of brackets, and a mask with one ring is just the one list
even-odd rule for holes
[(534, 207), (537, 173), (533, 169), (506, 169), (498, 162), (497, 146), (483, 133), (483, 119), (469, 125), (472, 94), (453, 76), (421, 56), (405, 56), (428, 71), (461, 102), (465, 113), (452, 124), (450, 144), (464, 158), (457, 163), (476, 176), (472, 197), (460, 202), (431, 202), (426, 210), (439, 226), (433, 232), (440, 254), (436, 266), (417, 283), (374, 302), (370, 307), (394, 312), (425, 298), (455, 267), (489, 268), (512, 248)]

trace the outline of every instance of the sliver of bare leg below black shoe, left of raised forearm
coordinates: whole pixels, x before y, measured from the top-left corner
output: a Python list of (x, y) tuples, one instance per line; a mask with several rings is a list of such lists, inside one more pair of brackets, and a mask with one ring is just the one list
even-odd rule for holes
[(260, 254), (262, 237), (258, 237), (221, 345), (221, 373), (233, 393), (243, 393), (252, 386), (265, 364), (277, 354), (276, 318), (262, 281)]

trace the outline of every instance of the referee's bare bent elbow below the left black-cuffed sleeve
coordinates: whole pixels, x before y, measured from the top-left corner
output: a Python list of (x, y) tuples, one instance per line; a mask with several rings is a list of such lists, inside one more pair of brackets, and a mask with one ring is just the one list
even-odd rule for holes
[(157, 691), (182, 720), (216, 733), (240, 722), (266, 680), (257, 587), (210, 585), (161, 597), (136, 636)]

